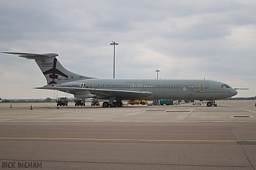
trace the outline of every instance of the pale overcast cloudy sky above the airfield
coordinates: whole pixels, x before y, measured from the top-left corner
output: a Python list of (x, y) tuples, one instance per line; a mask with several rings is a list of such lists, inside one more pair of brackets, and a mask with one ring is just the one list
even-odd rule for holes
[[(206, 79), (256, 95), (256, 1), (0, 1), (0, 52), (58, 53), (66, 69), (116, 79)], [(0, 53), (0, 98), (54, 98), (34, 60)], [(64, 96), (63, 96), (64, 95)], [(73, 97), (73, 95), (68, 95)]]

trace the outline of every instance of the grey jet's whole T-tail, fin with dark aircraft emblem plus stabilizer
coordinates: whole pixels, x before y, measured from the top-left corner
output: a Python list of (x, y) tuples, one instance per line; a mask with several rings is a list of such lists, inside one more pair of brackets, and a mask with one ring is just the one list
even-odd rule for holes
[(94, 77), (87, 77), (84, 75), (78, 75), (74, 72), (66, 70), (60, 62), (56, 59), (58, 54), (47, 53), (47, 54), (32, 54), (32, 53), (22, 53), (22, 52), (2, 52), (6, 54), (19, 55), (19, 57), (25, 57), (27, 59), (33, 59), (37, 63), (40, 70), (45, 75), (48, 85), (71, 82), (75, 80), (83, 79), (95, 79)]

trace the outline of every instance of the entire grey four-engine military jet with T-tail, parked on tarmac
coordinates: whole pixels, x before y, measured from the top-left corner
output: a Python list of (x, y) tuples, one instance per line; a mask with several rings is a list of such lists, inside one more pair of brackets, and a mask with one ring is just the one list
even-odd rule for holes
[(136, 99), (208, 100), (207, 105), (211, 106), (215, 100), (237, 95), (238, 89), (215, 80), (97, 79), (66, 70), (56, 59), (56, 53), (2, 53), (35, 60), (47, 80), (47, 85), (37, 89), (60, 90), (75, 98), (105, 99), (105, 108), (122, 107), (122, 100)]

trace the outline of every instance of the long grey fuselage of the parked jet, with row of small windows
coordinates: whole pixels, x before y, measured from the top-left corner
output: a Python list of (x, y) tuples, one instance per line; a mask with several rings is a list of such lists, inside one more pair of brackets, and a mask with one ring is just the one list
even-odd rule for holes
[[(83, 83), (83, 88), (104, 90), (125, 90), (151, 92), (152, 95), (142, 97), (146, 100), (177, 99), (177, 100), (219, 100), (237, 94), (237, 91), (223, 82), (214, 80), (118, 80), (118, 79), (87, 79), (76, 81)], [(69, 82), (72, 84), (72, 82)], [(65, 85), (65, 84), (63, 84)], [(76, 95), (75, 95), (76, 96)], [(97, 95), (96, 98), (100, 98)], [(102, 96), (102, 98), (104, 98)], [(115, 99), (140, 99), (138, 96)]]

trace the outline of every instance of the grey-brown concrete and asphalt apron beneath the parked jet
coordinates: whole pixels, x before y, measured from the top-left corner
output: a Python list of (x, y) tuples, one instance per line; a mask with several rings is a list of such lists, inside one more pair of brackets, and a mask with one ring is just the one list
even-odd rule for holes
[(255, 102), (0, 103), (0, 169), (256, 169)]

